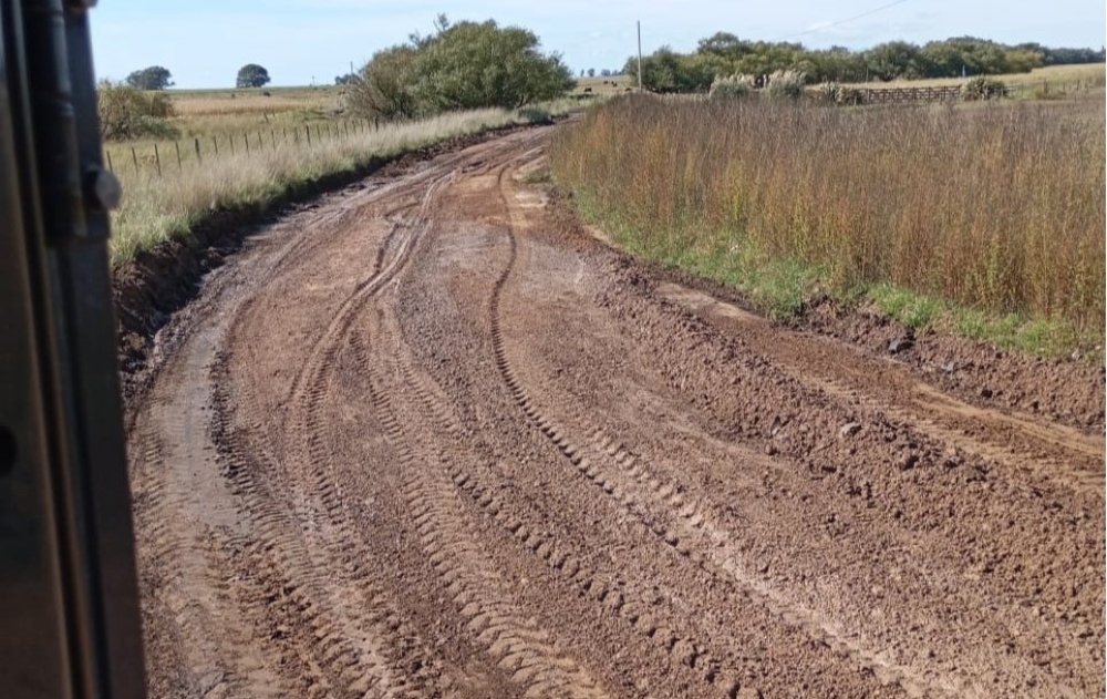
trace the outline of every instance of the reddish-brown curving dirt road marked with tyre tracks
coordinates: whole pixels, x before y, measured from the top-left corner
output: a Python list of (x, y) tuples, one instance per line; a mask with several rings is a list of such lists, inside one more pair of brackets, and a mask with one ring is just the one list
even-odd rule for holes
[(548, 135), (267, 227), (162, 331), (153, 696), (1103, 696), (1101, 380), (1010, 409), (660, 280), (526, 184)]

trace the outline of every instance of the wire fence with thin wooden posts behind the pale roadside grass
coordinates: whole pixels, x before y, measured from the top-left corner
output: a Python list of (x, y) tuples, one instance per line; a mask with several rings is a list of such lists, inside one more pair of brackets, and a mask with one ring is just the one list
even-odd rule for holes
[[(169, 147), (170, 144), (173, 153), (177, 156), (177, 171), (179, 172), (189, 164), (203, 167), (205, 164), (210, 165), (221, 157), (237, 157), (235, 141), (239, 137), (242, 138), (242, 143), (239, 145), (246, 148), (245, 154), (247, 156), (258, 156), (263, 154), (267, 150), (276, 153), (282, 147), (312, 148), (329, 141), (350, 138), (351, 136), (358, 136), (359, 134), (365, 134), (371, 131), (380, 131), (380, 129), (381, 123), (377, 120), (343, 120), (341, 123), (334, 123), (333, 126), (330, 122), (328, 122), (325, 126), (319, 123), (304, 124), (302, 134), (299, 126), (292, 129), (291, 132), (287, 126), (283, 126), (280, 131), (280, 137), (278, 137), (277, 129), (273, 127), (269, 130), (268, 142), (265, 138), (263, 132), (259, 130), (254, 133), (256, 141), (250, 138), (251, 134), (249, 131), (242, 131), (228, 134), (215, 134), (211, 136), (210, 143), (205, 141), (204, 144), (200, 143), (199, 136), (193, 137), (192, 144), (188, 143), (188, 138), (153, 141), (139, 144), (105, 144), (104, 162), (110, 171), (117, 172), (116, 164), (118, 161), (117, 157), (112, 156), (112, 153), (114, 152), (117, 156), (121, 152), (126, 153), (126, 151), (130, 150), (131, 164), (134, 167), (135, 175), (162, 177), (165, 174), (164, 168), (162, 167), (162, 151)], [(312, 133), (312, 131), (314, 131), (314, 133)], [(180, 147), (182, 141), (185, 143), (184, 153)], [(223, 141), (224, 145), (221, 150), (219, 147), (220, 141)], [(192, 145), (190, 148), (189, 145)], [(223, 155), (220, 155), (220, 152)]]

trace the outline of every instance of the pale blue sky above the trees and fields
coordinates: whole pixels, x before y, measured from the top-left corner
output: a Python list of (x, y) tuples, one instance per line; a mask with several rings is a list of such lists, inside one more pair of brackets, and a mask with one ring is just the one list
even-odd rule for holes
[[(742, 39), (865, 49), (974, 35), (1004, 43), (1099, 49), (1104, 0), (104, 0), (92, 11), (100, 78), (122, 80), (148, 65), (167, 68), (177, 88), (232, 88), (238, 69), (260, 63), (273, 85), (332, 84), (380, 49), (430, 33), (439, 12), (453, 21), (494, 19), (532, 30), (542, 50), (573, 71), (619, 70), (637, 51), (686, 52), (728, 31)], [(883, 9), (881, 9), (883, 8)], [(876, 10), (876, 11), (873, 11)], [(853, 21), (842, 21), (866, 14)]]

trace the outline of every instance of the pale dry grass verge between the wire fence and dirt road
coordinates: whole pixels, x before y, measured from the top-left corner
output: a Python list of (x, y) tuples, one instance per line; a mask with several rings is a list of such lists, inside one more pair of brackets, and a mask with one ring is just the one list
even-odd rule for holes
[[(504, 110), (455, 112), (422, 122), (391, 124), (379, 131), (315, 140), (309, 147), (278, 142), (235, 155), (226, 151), (203, 163), (177, 169), (163, 167), (161, 176), (146, 164), (139, 172), (116, 167), (123, 183), (123, 205), (113, 214), (112, 264), (133, 259), (170, 238), (187, 236), (213, 210), (261, 205), (332, 173), (352, 172), (374, 158), (385, 158), (458, 136), (516, 123), (528, 115)], [(163, 154), (163, 157), (167, 156)]]

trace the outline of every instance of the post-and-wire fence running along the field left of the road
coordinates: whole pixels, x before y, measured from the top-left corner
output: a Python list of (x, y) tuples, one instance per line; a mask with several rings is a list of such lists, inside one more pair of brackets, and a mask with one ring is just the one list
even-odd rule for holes
[(104, 164), (116, 174), (161, 177), (186, 167), (203, 167), (227, 157), (261, 156), (287, 148), (311, 148), (324, 143), (379, 132), (379, 120), (342, 120), (256, 129), (237, 133), (190, 136), (173, 141), (142, 141), (104, 146)]

